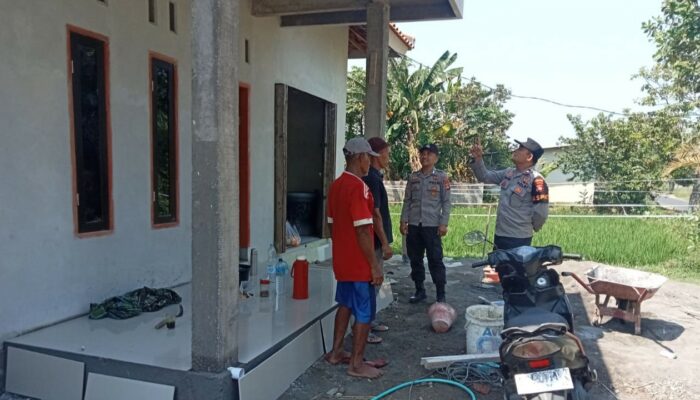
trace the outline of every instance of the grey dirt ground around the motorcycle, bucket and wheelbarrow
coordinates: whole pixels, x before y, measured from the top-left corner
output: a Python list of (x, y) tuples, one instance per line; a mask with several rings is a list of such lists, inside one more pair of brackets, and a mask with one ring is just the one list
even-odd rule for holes
[[(459, 260), (456, 260), (459, 261)], [(446, 260), (446, 264), (455, 261)], [(596, 265), (592, 262), (567, 261), (559, 271), (582, 274)], [(301, 375), (280, 399), (371, 399), (383, 391), (415, 379), (443, 377), (420, 365), (421, 357), (464, 354), (465, 309), (478, 304), (479, 296), (500, 299), (496, 289), (477, 287), (480, 270), (464, 266), (447, 269), (447, 301), (458, 318), (444, 334), (434, 333), (427, 309), (435, 299), (434, 286), (426, 282), (428, 302), (409, 304), (413, 283), (410, 267), (394, 257), (386, 264), (392, 284), (394, 302), (379, 313), (379, 320), (389, 326), (380, 335), (381, 344), (367, 345), (366, 356), (390, 361), (383, 377), (375, 380), (352, 378), (345, 366), (332, 366), (322, 358)], [(642, 335), (633, 334), (633, 325), (606, 317), (601, 327), (591, 326), (595, 319), (595, 298), (572, 278), (562, 278), (574, 308), (576, 330), (584, 342), (599, 381), (591, 390), (591, 399), (657, 400), (700, 399), (700, 286), (666, 282), (656, 295), (642, 303)], [(346, 341), (349, 349), (349, 341)], [(673, 358), (675, 356), (675, 358)], [(500, 388), (493, 387), (478, 399), (502, 399)], [(385, 399), (468, 399), (458, 388), (432, 384), (413, 386), (395, 392)]]

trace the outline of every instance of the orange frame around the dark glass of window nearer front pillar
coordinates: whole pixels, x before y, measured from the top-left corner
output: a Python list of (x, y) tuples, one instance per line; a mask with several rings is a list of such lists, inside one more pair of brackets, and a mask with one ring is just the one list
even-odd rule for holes
[[(170, 161), (170, 174), (171, 185), (170, 185), (170, 196), (174, 200), (175, 204), (173, 206), (173, 215), (170, 218), (161, 218), (157, 214), (156, 201), (158, 198), (158, 188), (157, 188), (157, 176), (156, 176), (156, 126), (155, 126), (155, 98), (154, 98), (154, 68), (157, 64), (167, 64), (172, 68), (172, 78), (170, 89), (172, 91), (172, 96), (170, 98), (171, 107), (171, 117), (172, 121), (169, 124), (171, 129), (170, 132), (170, 151), (171, 155)], [(180, 177), (179, 177), (179, 121), (178, 121), (178, 72), (177, 72), (177, 60), (159, 54), (153, 51), (148, 53), (148, 105), (149, 105), (149, 138), (150, 138), (150, 191), (149, 199), (151, 203), (151, 227), (153, 229), (170, 228), (178, 226), (180, 223)]]

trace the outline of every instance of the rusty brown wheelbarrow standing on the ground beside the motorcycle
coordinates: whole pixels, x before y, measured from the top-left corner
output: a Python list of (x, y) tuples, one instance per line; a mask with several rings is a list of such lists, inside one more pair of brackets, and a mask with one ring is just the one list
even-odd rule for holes
[[(588, 282), (573, 272), (562, 272), (562, 275), (574, 278), (595, 295), (597, 320), (593, 322), (594, 325), (601, 325), (604, 316), (619, 318), (634, 322), (635, 335), (642, 333), (642, 302), (652, 298), (666, 282), (666, 278), (658, 274), (605, 265), (586, 271)], [(608, 306), (611, 297), (615, 298), (616, 307)]]

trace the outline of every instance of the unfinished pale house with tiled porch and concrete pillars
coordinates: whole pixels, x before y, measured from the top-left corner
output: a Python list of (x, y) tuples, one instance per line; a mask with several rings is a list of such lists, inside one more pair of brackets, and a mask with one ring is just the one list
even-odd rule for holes
[[(368, 131), (383, 132), (387, 57), (412, 46), (389, 22), (461, 7), (0, 2), (0, 393), (277, 398), (332, 335), (321, 216), (343, 168), (348, 58), (368, 58)], [(271, 244), (312, 262), (308, 300), (257, 295)], [(88, 318), (143, 287), (182, 308)]]

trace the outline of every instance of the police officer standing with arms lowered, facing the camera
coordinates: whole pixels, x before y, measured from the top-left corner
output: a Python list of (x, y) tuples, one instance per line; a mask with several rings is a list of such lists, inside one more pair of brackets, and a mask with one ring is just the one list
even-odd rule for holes
[(428, 268), (435, 283), (438, 302), (445, 302), (445, 264), (442, 262), (442, 237), (447, 234), (450, 219), (450, 180), (447, 174), (435, 168), (438, 160), (435, 144), (420, 149), (421, 169), (410, 175), (401, 210), (401, 234), (406, 236), (408, 258), (411, 260), (411, 279), (416, 292), (410, 303), (424, 301), (427, 296), (423, 254), (428, 254)]

